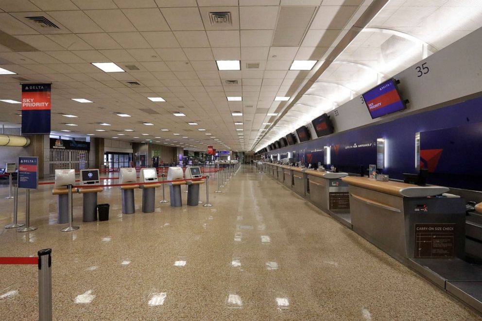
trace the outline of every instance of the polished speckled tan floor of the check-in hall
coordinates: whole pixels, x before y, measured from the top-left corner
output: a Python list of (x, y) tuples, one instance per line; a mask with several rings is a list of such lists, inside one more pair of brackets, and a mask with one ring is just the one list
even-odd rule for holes
[[(31, 196), (38, 229), (1, 229), (0, 256), (52, 248), (55, 320), (482, 320), (254, 167), (241, 167), (223, 193), (216, 182), (213, 207), (156, 203), (150, 214), (140, 191), (136, 213), (122, 215), (120, 190), (104, 189), (104, 222), (83, 223), (75, 195), (80, 229), (69, 233), (43, 186)], [(7, 194), (1, 186), (1, 226), (12, 220)], [(0, 320), (35, 320), (36, 273), (0, 266)]]

